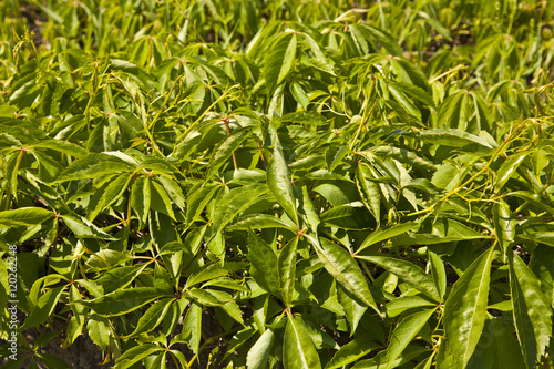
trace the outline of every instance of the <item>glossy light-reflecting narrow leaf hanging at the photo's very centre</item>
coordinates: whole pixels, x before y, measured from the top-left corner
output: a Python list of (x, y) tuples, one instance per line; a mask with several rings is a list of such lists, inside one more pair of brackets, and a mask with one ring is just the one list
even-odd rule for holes
[(287, 215), (298, 225), (295, 192), (290, 183), (287, 162), (280, 150), (280, 145), (277, 143), (275, 145), (274, 156), (269, 161), (267, 168), (267, 185)]

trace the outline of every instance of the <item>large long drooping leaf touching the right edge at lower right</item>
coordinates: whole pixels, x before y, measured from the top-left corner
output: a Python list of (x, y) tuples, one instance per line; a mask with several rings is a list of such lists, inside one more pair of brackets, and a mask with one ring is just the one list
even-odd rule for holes
[(552, 306), (538, 278), (519, 255), (509, 253), (515, 330), (527, 368), (535, 368), (552, 337)]

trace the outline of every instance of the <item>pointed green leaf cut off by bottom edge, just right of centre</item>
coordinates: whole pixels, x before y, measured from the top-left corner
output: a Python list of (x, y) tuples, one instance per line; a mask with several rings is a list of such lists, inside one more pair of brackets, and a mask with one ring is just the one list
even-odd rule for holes
[(283, 363), (285, 369), (321, 368), (316, 347), (299, 316), (288, 316), (283, 342)]

